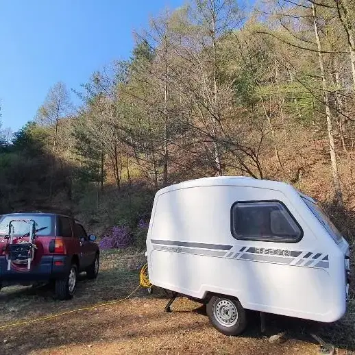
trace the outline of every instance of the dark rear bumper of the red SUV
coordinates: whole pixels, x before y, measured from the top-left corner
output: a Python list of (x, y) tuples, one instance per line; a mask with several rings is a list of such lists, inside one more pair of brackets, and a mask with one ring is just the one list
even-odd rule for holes
[(69, 271), (71, 258), (69, 256), (42, 256), (37, 265), (32, 265), (30, 270), (25, 267), (12, 266), (8, 270), (8, 262), (5, 256), (0, 256), (0, 281), (5, 283), (31, 283), (49, 281), (62, 278)]

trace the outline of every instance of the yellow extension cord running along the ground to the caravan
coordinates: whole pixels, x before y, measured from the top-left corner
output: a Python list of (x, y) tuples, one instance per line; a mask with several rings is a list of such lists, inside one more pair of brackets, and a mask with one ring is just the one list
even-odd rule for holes
[(95, 304), (94, 306), (90, 306), (90, 307), (77, 308), (77, 309), (73, 309), (73, 310), (66, 310), (65, 312), (62, 312), (62, 313), (56, 313), (54, 315), (47, 315), (46, 317), (31, 319), (29, 321), (19, 321), (16, 323), (10, 323), (10, 324), (6, 324), (5, 326), (0, 326), (0, 329), (10, 328), (10, 327), (14, 327), (14, 326), (23, 326), (23, 325), (29, 324), (29, 323), (36, 323), (38, 321), (45, 321), (47, 319), (61, 317), (62, 315), (69, 315), (70, 313), (79, 312), (81, 310), (91, 310), (91, 309), (95, 309), (98, 307), (110, 306), (112, 304), (118, 304), (119, 302), (123, 302), (123, 301), (125, 301), (125, 299), (130, 298), (140, 288), (140, 286), (142, 286), (142, 287), (151, 287), (152, 286), (151, 283), (149, 282), (147, 268), (148, 268), (148, 265), (145, 264), (142, 267), (142, 269), (140, 269), (140, 276), (139, 276), (140, 284), (138, 284), (138, 287), (136, 287), (136, 289), (134, 289), (134, 291), (132, 291), (129, 295), (127, 295), (126, 297), (124, 297), (122, 299), (118, 299), (116, 301), (105, 302), (105, 303), (101, 303), (101, 304)]

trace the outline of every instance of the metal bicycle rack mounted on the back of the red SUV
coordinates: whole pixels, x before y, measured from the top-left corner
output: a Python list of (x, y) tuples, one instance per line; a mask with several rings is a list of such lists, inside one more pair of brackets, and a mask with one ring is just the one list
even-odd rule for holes
[[(23, 222), (29, 224), (29, 240), (25, 242), (14, 243), (14, 222)], [(36, 249), (36, 244), (34, 239), (36, 238), (36, 222), (33, 219), (13, 219), (9, 223), (9, 255), (8, 255), (8, 271), (11, 269), (11, 262), (16, 264), (27, 264), (27, 270), (31, 269), (31, 262), (34, 259), (34, 251)], [(19, 236), (18, 239), (27, 236)]]

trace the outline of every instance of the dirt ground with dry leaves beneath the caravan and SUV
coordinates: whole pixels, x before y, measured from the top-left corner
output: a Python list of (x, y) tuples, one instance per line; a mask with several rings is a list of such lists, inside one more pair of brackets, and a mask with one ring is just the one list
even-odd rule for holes
[[(0, 326), (21, 320), (121, 299), (138, 285), (143, 254), (104, 252), (97, 280), (81, 276), (71, 301), (53, 298), (49, 286), (9, 287), (0, 293)], [(123, 302), (61, 317), (0, 329), (0, 354), (317, 354), (309, 335), (316, 330), (337, 347), (337, 354), (355, 354), (355, 329), (350, 314), (341, 322), (319, 326), (286, 317), (267, 316), (267, 335), (260, 333), (256, 313), (243, 336), (223, 336), (210, 326), (204, 306), (181, 298), (164, 313), (167, 297), (145, 289)], [(269, 336), (285, 332), (282, 343)]]

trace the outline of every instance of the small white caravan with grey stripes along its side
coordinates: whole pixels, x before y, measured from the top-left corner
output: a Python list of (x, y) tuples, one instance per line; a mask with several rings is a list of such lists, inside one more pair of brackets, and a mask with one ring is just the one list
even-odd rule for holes
[(207, 177), (162, 188), (147, 258), (151, 284), (206, 302), (223, 334), (244, 330), (245, 309), (322, 322), (345, 313), (349, 245), (283, 182)]

